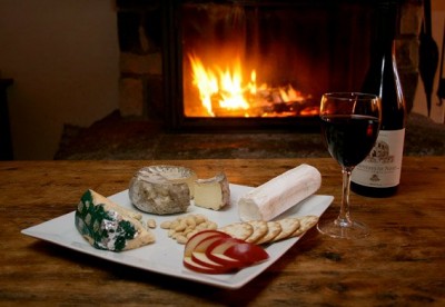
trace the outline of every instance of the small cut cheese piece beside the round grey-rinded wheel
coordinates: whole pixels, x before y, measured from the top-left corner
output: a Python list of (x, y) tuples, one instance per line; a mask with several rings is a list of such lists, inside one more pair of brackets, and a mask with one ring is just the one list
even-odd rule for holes
[(209, 179), (195, 181), (195, 205), (208, 209), (219, 210), (229, 205), (230, 188), (224, 172)]

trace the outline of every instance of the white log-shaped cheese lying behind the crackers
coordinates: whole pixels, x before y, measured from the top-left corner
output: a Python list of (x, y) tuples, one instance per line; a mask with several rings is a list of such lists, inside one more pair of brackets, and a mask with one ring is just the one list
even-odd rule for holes
[(270, 220), (316, 192), (322, 186), (320, 172), (300, 165), (250, 190), (238, 201), (239, 218)]

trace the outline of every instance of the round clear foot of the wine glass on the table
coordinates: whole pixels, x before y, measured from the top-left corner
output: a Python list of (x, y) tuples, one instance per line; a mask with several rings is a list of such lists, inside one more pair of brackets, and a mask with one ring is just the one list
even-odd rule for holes
[(320, 221), (317, 229), (323, 235), (340, 239), (359, 239), (369, 235), (369, 228), (360, 221), (348, 224), (338, 222), (338, 220)]

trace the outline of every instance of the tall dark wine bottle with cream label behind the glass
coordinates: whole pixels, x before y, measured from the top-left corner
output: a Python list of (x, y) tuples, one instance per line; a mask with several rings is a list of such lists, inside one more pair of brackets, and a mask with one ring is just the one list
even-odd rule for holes
[(350, 188), (369, 197), (388, 197), (400, 181), (406, 108), (395, 59), (397, 1), (379, 1), (377, 29), (372, 42), (370, 66), (363, 92), (382, 100), (378, 138), (368, 157), (353, 170)]

